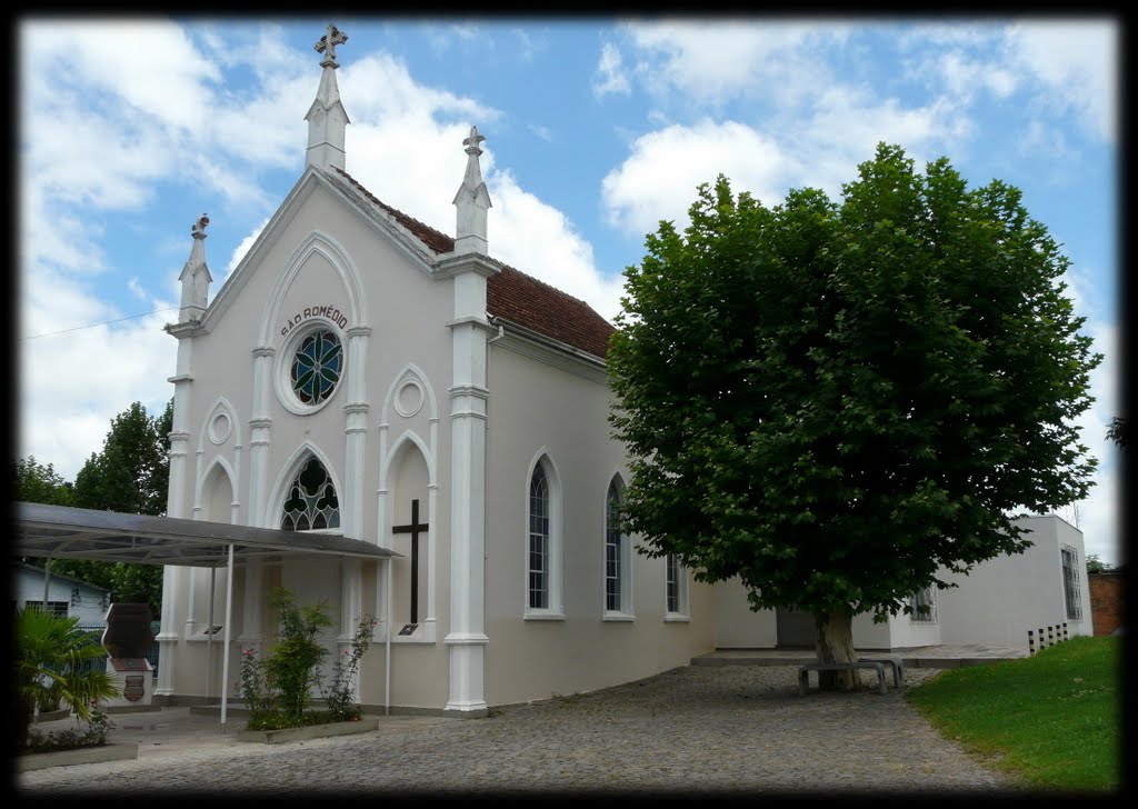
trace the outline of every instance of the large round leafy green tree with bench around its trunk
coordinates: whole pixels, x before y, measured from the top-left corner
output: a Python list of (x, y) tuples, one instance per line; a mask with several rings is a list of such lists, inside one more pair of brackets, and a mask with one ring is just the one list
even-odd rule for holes
[(768, 208), (720, 175), (646, 248), (609, 350), (626, 526), (753, 610), (813, 612), (820, 660), (853, 659), (855, 614), (1022, 553), (1017, 511), (1086, 496), (1073, 419), (1102, 356), (1015, 188), (881, 145), (841, 204)]

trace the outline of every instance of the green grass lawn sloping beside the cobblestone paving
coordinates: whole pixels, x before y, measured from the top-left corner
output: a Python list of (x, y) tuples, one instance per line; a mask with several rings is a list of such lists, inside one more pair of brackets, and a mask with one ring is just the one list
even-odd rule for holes
[(1122, 638), (1073, 637), (1032, 658), (949, 669), (908, 692), (948, 738), (1032, 787), (1122, 786)]

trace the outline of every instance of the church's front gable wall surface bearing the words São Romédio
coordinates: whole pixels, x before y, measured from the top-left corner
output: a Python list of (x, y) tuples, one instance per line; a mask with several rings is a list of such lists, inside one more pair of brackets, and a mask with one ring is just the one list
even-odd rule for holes
[[(437, 405), (424, 405), (410, 418), (401, 415), (397, 408), (389, 408), (387, 421), (381, 423), (385, 418), (382, 404), (389, 395), (397, 393), (393, 391), (393, 386), (409, 365), (419, 372), (417, 380), (420, 389), (428, 388), (424, 390), (426, 401), (437, 403), (442, 396), (442, 401), (446, 402), (451, 380), (451, 335), (445, 324), (453, 309), (452, 282), (432, 280), (371, 221), (344, 205), (322, 183), (312, 179), (306, 182), (311, 187), (300, 183), (305, 192), (298, 204), (266, 229), (266, 232), (272, 231), (274, 240), (250, 251), (255, 261), (241, 265), (229, 280), (226, 287), (236, 286), (224, 290), (224, 311), (207, 314), (209, 333), (192, 339), (193, 381), (188, 397), (187, 423), (192, 437), (191, 447), (196, 452), (188, 459), (183, 480), (183, 498), (189, 513), (181, 515), (226, 521), (225, 517), (213, 513), (218, 510), (218, 504), (206, 478), (207, 473), (215, 474), (216, 467), (223, 464), (236, 478), (231, 509), (234, 521), (278, 527), (286, 488), (304, 451), (311, 448), (336, 482), (341, 525), (347, 529), (345, 534), (391, 546), (395, 539), (390, 527), (404, 518), (402, 512), (393, 510), (394, 503), (386, 502), (394, 500), (395, 494), (388, 497), (381, 487), (380, 472), (385, 459), (395, 444), (412, 438), (432, 455), (436, 478), (446, 476), (450, 434), (447, 420), (439, 418)], [(283, 276), (289, 271), (295, 272), (284, 283)], [(314, 311), (323, 306), (338, 309), (338, 314), (332, 315), (339, 321), (335, 325), (327, 315), (323, 320), (339, 333), (345, 347), (344, 375), (325, 406), (319, 412), (298, 415), (282, 404), (279, 395), (279, 391), (287, 394), (283, 377), (290, 357), (286, 354), (290, 354), (290, 338), (298, 333), (298, 329), (321, 319)], [(363, 322), (362, 315), (366, 315)], [(282, 335), (282, 331), (286, 333)], [(267, 346), (263, 345), (265, 335)], [(265, 347), (273, 350), (267, 358), (269, 378), (262, 380), (255, 349)], [(259, 353), (265, 354), (264, 350)], [(211, 426), (217, 418), (218, 396), (224, 398), (222, 410), (226, 411), (226, 418), (236, 423), (231, 424), (233, 429), (222, 440), (214, 441)], [(356, 415), (346, 412), (346, 407), (355, 411)], [(262, 416), (271, 420), (266, 430), (261, 424), (261, 438), (254, 429), (259, 423), (258, 410)], [(353, 427), (353, 418), (357, 427)], [(201, 435), (206, 436), (205, 440), (199, 440)], [(265, 440), (267, 444), (263, 443)], [(353, 441), (356, 443), (355, 454), (361, 456), (358, 462), (349, 453)], [(263, 456), (259, 477), (251, 452), (257, 445)], [(386, 481), (388, 486), (394, 484), (394, 479)], [(431, 527), (436, 539), (436, 560), (431, 573), (435, 585), (431, 617), (445, 620), (450, 604), (446, 587), (439, 586), (439, 583), (448, 580), (448, 548), (443, 530), (450, 522), (448, 498), (435, 500)], [(387, 513), (381, 514), (385, 509)], [(421, 509), (420, 519), (427, 521), (426, 502), (421, 503)], [(349, 528), (353, 510), (356, 512), (355, 531)], [(380, 613), (386, 606), (386, 592), (382, 589), (386, 577), (377, 576), (374, 564), (363, 566), (368, 568), (363, 580), (360, 579), (363, 571), (358, 564), (352, 569), (341, 569), (339, 562), (318, 566), (319, 570), (307, 563), (299, 567), (294, 563), (294, 567), (283, 571), (279, 567), (265, 567), (258, 573), (259, 586), (265, 591), (275, 584), (289, 586), (296, 591), (298, 602), (303, 596), (302, 603), (323, 593), (330, 613), (338, 619), (331, 637), (325, 638), (330, 647), (337, 638), (340, 642), (351, 638), (355, 619), (348, 612), (358, 613), (362, 610), (384, 618)], [(180, 572), (178, 595), (172, 599), (174, 622), (183, 627), (180, 630), (183, 641), (201, 638), (200, 630), (208, 621), (209, 573), (206, 570)], [(247, 609), (241, 587), (247, 578), (246, 571), (240, 571), (236, 578), (232, 637), (271, 639), (275, 631), (275, 617), (270, 614), (267, 608)], [(341, 579), (347, 578), (352, 578), (353, 594), (348, 600), (352, 603), (345, 606), (340, 588)], [(424, 603), (428, 594), (421, 592), (420, 597)], [(220, 616), (224, 614), (223, 572), (218, 573), (214, 588), (214, 608), (215, 622), (221, 624)], [(424, 605), (423, 611), (426, 609)], [(445, 636), (445, 631), (443, 628), (437, 637)], [(403, 638), (396, 643), (413, 644), (415, 641)], [(180, 694), (206, 693), (206, 652), (204, 647), (199, 649), (201, 645), (195, 641), (180, 644), (181, 668), (184, 669), (176, 686)], [(234, 639), (231, 646), (231, 672), (239, 670), (240, 645)], [(218, 646), (214, 644), (213, 655), (220, 654)], [(421, 659), (412, 662), (412, 654), (421, 658), (424, 653), (437, 657), (439, 663), (424, 666)], [(393, 655), (393, 683), (412, 688), (405, 700), (397, 701), (431, 705), (445, 702), (446, 664), (442, 644), (412, 654)], [(382, 654), (372, 652), (365, 663), (371, 663), (371, 668), (362, 687), (373, 702), (381, 702)], [(203, 674), (196, 675), (198, 671)], [(216, 695), (217, 691), (213, 693)], [(393, 700), (396, 696), (393, 694)]]

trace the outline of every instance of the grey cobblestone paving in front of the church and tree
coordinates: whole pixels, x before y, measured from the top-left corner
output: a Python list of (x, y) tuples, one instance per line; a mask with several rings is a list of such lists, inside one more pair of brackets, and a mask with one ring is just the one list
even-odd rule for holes
[[(906, 686), (798, 693), (793, 664), (685, 666), (637, 683), (490, 711), (484, 719), (385, 717), (380, 729), (238, 743), (244, 721), (167, 708), (114, 717), (132, 761), (17, 774), (22, 799), (462, 796), (588, 793), (1025, 796), (906, 702)], [(864, 672), (872, 685), (876, 677)], [(871, 682), (872, 680), (872, 682)]]

